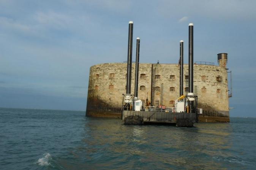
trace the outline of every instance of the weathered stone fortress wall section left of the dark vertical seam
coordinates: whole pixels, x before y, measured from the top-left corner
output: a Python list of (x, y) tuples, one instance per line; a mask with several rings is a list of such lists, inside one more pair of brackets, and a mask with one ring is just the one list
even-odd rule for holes
[[(145, 102), (151, 97), (151, 67), (152, 64), (141, 64), (139, 68), (138, 96)], [(121, 114), (123, 95), (126, 93), (127, 63), (104, 63), (90, 67), (87, 116), (98, 115), (95, 110), (107, 110), (104, 117), (113, 117), (112, 114)], [(131, 92), (134, 93), (135, 64), (132, 64)], [(141, 76), (141, 74), (145, 74)], [(144, 88), (141, 88), (141, 86)], [(142, 89), (142, 90), (140, 90)], [(111, 114), (110, 114), (111, 112)]]

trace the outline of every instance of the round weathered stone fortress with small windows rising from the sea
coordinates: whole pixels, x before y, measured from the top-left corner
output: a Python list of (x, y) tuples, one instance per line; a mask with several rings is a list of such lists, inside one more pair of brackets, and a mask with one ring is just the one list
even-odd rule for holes
[[(213, 63), (194, 63), (194, 94), (198, 96), (201, 122), (229, 122), (228, 54), (218, 54), (218, 66)], [(127, 63), (104, 63), (90, 67), (86, 115), (121, 117), (123, 95), (126, 93)], [(135, 63), (132, 64), (131, 89), (134, 89)], [(179, 64), (139, 65), (138, 96), (145, 107), (173, 107), (179, 97)], [(188, 93), (188, 65), (184, 64), (183, 91)], [(132, 91), (133, 93), (133, 91)]]

